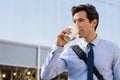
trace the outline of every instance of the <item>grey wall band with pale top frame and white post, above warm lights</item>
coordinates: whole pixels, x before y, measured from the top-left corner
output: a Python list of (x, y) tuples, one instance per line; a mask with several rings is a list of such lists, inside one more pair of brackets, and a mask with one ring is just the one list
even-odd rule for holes
[[(39, 47), (40, 52), (38, 51)], [(50, 48), (49, 46), (43, 45), (0, 40), (0, 65), (29, 68), (41, 67)]]

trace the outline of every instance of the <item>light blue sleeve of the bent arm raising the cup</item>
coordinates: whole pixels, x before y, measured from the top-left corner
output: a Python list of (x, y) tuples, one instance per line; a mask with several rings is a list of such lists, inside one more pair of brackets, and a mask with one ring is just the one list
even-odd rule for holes
[(66, 70), (64, 60), (59, 58), (62, 51), (63, 47), (54, 45), (50, 53), (48, 53), (48, 56), (41, 68), (42, 80), (50, 80)]

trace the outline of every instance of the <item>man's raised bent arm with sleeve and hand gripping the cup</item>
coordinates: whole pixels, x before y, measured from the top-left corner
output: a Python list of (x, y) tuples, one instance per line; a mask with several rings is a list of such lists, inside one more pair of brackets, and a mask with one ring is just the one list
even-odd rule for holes
[[(63, 37), (70, 33), (70, 28), (66, 28), (57, 35), (56, 46), (54, 46), (52, 51), (48, 54), (41, 69), (41, 78), (43, 80), (50, 80), (65, 71), (66, 63), (63, 59), (59, 58), (59, 56), (63, 51), (64, 45), (68, 43), (63, 39)], [(74, 39), (75, 38), (73, 38), (73, 40)]]

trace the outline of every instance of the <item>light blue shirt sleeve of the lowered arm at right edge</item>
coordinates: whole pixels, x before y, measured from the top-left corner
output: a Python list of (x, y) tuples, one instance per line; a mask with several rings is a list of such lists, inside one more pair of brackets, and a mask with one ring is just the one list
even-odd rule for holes
[(115, 50), (113, 61), (113, 75), (114, 80), (120, 80), (120, 48)]

